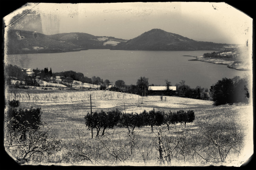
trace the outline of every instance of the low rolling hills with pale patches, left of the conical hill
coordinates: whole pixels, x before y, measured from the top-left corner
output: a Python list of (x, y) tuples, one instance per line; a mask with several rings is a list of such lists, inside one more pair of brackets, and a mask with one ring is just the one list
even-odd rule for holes
[(7, 53), (60, 53), (86, 49), (109, 49), (126, 40), (115, 37), (94, 36), (87, 33), (60, 33), (44, 35), (33, 31), (11, 29), (7, 31)]

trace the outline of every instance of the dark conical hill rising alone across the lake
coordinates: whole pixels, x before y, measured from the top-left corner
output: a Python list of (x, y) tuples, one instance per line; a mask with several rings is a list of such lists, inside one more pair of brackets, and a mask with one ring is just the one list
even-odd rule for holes
[(161, 29), (152, 29), (127, 42), (122, 42), (112, 49), (122, 50), (219, 50), (225, 44), (202, 42), (169, 33)]

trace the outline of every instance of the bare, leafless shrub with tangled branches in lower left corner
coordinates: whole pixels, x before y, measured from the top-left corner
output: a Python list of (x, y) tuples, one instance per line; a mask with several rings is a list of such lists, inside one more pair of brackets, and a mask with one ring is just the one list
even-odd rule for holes
[[(20, 133), (12, 133), (12, 144), (10, 136), (5, 137), (5, 148), (7, 153), (20, 164), (41, 163), (47, 155), (52, 155), (60, 150), (61, 140), (48, 135), (49, 127), (44, 124), (40, 130), (28, 131), (29, 137), (20, 140)], [(6, 133), (7, 134), (7, 133)]]

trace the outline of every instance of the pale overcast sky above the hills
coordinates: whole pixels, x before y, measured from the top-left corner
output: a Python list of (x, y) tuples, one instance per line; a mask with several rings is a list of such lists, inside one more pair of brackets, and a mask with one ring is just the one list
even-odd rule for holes
[(14, 13), (31, 8), (40, 14), (47, 35), (83, 32), (131, 39), (159, 28), (200, 41), (245, 44), (252, 39), (252, 18), (225, 3), (32, 3)]

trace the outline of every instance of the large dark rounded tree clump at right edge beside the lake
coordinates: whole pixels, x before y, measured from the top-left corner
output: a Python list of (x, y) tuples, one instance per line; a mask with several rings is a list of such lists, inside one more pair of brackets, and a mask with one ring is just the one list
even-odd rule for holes
[(211, 86), (210, 91), (216, 105), (247, 102), (249, 98), (248, 77), (223, 78)]

